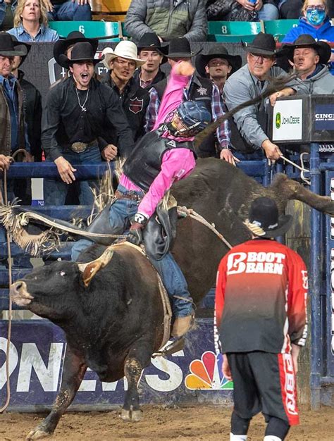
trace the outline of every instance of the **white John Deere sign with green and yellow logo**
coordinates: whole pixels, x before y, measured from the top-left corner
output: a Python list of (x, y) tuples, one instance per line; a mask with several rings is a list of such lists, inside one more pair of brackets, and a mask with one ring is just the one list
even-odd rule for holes
[(276, 101), (273, 109), (273, 139), (302, 140), (302, 99)]

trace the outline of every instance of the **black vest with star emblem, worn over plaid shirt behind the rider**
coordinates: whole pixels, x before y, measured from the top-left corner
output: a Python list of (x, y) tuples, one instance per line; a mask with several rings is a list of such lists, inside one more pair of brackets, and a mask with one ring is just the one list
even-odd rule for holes
[[(153, 86), (158, 93), (160, 102), (163, 96), (163, 92), (166, 89), (166, 85), (167, 79), (159, 81)], [(214, 85), (211, 80), (209, 80), (208, 78), (197, 77), (196, 75), (195, 77), (193, 77), (192, 82), (190, 83), (190, 89), (188, 93), (188, 99), (191, 101), (202, 101), (210, 112), (211, 116), (211, 98), (213, 89)], [(197, 156), (199, 156), (199, 158), (218, 156), (216, 143), (216, 133), (211, 133), (211, 135), (204, 139), (202, 144), (199, 144), (199, 146), (196, 147)]]

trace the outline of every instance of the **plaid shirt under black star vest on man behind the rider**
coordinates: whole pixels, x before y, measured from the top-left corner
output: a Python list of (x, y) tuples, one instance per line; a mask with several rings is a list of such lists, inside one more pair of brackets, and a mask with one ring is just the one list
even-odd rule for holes
[[(190, 82), (192, 81), (192, 79), (193, 77), (191, 78)], [(183, 90), (183, 96), (185, 98), (185, 101), (190, 100), (189, 89), (190, 87), (185, 87), (185, 89)], [(154, 89), (154, 87), (151, 87), (151, 89), (149, 90), (149, 94), (151, 97), (151, 101), (150, 101), (151, 113), (153, 114), (155, 112), (157, 115), (160, 106), (158, 92), (156, 92), (156, 89)], [(149, 111), (149, 108), (147, 108), (147, 111)], [(213, 121), (216, 121), (217, 118), (220, 118), (221, 116), (225, 115), (225, 104), (223, 104), (221, 94), (216, 85), (213, 85), (212, 88), (211, 113), (212, 113)], [(154, 118), (154, 116), (151, 115), (151, 118)], [(219, 125), (218, 128), (216, 128), (216, 135), (218, 142), (218, 151), (222, 149), (228, 149), (230, 146), (230, 125), (228, 123), (228, 120), (223, 121), (223, 123), (221, 123), (221, 125)]]

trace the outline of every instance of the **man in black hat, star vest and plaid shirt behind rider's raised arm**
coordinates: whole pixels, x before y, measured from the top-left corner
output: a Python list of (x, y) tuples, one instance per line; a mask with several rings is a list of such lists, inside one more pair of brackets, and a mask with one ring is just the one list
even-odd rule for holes
[[(168, 58), (168, 63), (173, 68), (178, 61), (190, 61), (201, 49), (192, 52), (190, 43), (183, 37), (172, 39), (170, 44), (161, 47), (160, 51)], [(166, 84), (167, 80), (159, 81), (154, 85), (154, 89), (150, 91), (151, 99), (156, 101), (157, 105), (161, 102)], [(199, 77), (196, 73), (192, 75), (190, 82), (188, 82), (187, 87), (185, 87), (184, 99), (185, 101), (203, 101), (211, 113), (212, 120), (216, 120), (225, 113), (218, 87), (208, 78)], [(197, 147), (197, 156), (200, 158), (217, 156), (218, 158), (235, 164), (235, 158), (229, 149), (229, 145), (230, 128), (228, 120), (225, 120), (223, 124), (217, 128), (215, 134), (206, 137), (202, 144)]]

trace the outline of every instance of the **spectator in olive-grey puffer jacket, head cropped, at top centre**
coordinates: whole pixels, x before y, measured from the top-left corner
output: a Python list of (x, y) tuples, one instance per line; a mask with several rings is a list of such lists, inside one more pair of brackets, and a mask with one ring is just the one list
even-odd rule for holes
[(155, 32), (161, 42), (187, 37), (205, 42), (207, 25), (203, 0), (132, 0), (125, 18), (125, 30), (139, 41)]

